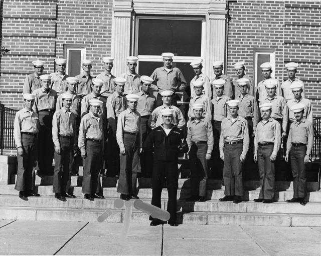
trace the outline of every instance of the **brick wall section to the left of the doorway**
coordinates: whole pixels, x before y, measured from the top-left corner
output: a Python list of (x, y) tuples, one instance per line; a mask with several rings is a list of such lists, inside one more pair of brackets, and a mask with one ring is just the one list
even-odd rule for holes
[(55, 58), (64, 57), (64, 44), (84, 44), (93, 74), (102, 70), (101, 56), (110, 55), (112, 0), (4, 0), (0, 101), (21, 108), (23, 83), (33, 72), (32, 61), (46, 62), (44, 73), (55, 71)]

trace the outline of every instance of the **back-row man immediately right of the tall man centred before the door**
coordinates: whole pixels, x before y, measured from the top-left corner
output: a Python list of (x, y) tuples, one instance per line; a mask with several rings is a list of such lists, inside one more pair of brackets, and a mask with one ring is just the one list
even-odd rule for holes
[(209, 98), (212, 98), (212, 87), (211, 87), (211, 81), (210, 78), (202, 73), (202, 59), (195, 59), (191, 62), (190, 64), (194, 70), (195, 76), (193, 77), (193, 79), (190, 82), (190, 87), (191, 87), (191, 97), (195, 96), (195, 90), (194, 90), (194, 82), (195, 81), (203, 81), (204, 82), (204, 90), (203, 93), (205, 95), (207, 95)]

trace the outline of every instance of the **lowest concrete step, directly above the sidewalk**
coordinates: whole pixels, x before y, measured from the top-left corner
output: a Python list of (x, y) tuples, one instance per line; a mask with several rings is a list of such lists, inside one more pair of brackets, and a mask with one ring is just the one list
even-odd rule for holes
[[(59, 220), (96, 222), (103, 209), (37, 208), (0, 206), (2, 219)], [(105, 222), (123, 222), (124, 210), (112, 210)], [(320, 214), (178, 212), (178, 223), (220, 225), (321, 226)], [(148, 215), (133, 209), (131, 222), (149, 222)]]

